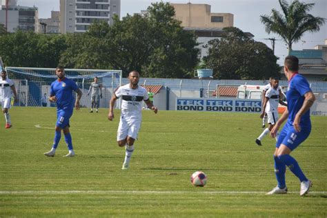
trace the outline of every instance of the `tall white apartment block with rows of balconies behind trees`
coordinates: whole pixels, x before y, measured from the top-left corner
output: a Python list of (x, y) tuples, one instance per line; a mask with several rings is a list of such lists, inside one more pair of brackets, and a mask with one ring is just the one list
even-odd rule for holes
[(86, 32), (95, 21), (112, 24), (121, 0), (60, 0), (60, 32)]

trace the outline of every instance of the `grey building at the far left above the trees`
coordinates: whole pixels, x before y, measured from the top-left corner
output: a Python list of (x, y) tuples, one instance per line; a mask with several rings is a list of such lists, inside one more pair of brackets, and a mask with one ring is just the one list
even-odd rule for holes
[(0, 23), (6, 26), (8, 32), (33, 31), (38, 32), (38, 10), (35, 7), (17, 6), (17, 0), (1, 1)]

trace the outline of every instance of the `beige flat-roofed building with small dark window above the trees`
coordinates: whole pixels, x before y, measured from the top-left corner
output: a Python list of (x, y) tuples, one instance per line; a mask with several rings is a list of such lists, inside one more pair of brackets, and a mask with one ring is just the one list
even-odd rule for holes
[(171, 3), (175, 17), (186, 28), (225, 28), (234, 26), (234, 15), (212, 13), (211, 6), (194, 3)]

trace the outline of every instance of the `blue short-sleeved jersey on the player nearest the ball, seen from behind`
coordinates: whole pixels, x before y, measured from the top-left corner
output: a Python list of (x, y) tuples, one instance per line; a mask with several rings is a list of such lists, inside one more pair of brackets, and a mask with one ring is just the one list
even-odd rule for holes
[[(288, 90), (286, 92), (287, 99), (287, 109), (289, 112), (288, 115), (288, 123), (293, 126), (293, 121), (295, 119), (295, 115), (301, 109), (304, 103), (304, 94), (310, 92), (310, 86), (306, 78), (304, 76), (296, 74), (290, 79), (288, 83)], [(301, 117), (300, 126), (302, 128), (310, 128), (310, 110), (304, 113)]]

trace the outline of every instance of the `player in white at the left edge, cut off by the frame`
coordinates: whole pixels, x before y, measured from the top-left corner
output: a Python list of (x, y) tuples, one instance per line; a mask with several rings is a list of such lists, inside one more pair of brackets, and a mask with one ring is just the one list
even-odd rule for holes
[(16, 103), (17, 92), (14, 88), (14, 82), (7, 78), (6, 70), (2, 70), (0, 78), (0, 101), (3, 115), (5, 115), (6, 118), (6, 128), (12, 127), (10, 115), (8, 112), (10, 108), (12, 93), (14, 94), (14, 103)]

